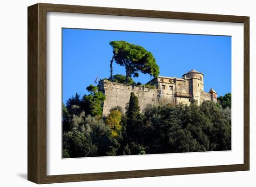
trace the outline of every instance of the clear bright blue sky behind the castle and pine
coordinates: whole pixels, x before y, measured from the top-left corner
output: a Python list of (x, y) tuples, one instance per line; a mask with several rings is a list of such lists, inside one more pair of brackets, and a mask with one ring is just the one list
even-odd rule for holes
[[(122, 32), (62, 29), (62, 97), (87, 94), (86, 87), (98, 76), (108, 78), (112, 58), (110, 41), (124, 40), (152, 52), (160, 75), (182, 77), (195, 69), (204, 74), (204, 90), (218, 96), (231, 92), (231, 37), (192, 34)], [(113, 75), (125, 75), (125, 68), (113, 63)], [(140, 73), (135, 82), (145, 84), (150, 76)]]

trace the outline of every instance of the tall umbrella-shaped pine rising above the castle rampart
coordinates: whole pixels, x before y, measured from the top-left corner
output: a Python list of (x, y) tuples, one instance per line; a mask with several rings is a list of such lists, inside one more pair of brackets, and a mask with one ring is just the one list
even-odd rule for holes
[(113, 57), (110, 61), (110, 80), (112, 80), (114, 59), (115, 63), (125, 67), (126, 83), (128, 83), (128, 77), (132, 75), (138, 77), (138, 71), (144, 74), (148, 73), (154, 77), (159, 75), (159, 66), (156, 64), (153, 54), (140, 45), (130, 44), (126, 41), (111, 41), (109, 44), (113, 47)]

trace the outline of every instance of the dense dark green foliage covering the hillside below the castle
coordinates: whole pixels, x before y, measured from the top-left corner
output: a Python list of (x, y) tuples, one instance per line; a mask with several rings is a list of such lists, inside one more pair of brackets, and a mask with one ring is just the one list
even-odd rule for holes
[(105, 98), (97, 87), (88, 91), (63, 104), (63, 158), (231, 149), (229, 106), (148, 105), (141, 112), (132, 92), (126, 112), (117, 106), (101, 116)]

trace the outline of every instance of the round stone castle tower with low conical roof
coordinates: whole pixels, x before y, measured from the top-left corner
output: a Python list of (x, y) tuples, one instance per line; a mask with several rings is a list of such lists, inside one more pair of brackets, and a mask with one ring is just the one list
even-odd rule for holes
[(194, 102), (200, 105), (201, 92), (204, 90), (203, 74), (192, 69), (191, 71), (185, 73), (183, 77), (191, 78), (189, 82), (189, 93), (192, 95)]

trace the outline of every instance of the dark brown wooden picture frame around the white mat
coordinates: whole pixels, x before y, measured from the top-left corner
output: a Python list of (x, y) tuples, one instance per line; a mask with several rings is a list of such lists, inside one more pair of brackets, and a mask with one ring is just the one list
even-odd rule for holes
[[(244, 151), (243, 164), (189, 168), (150, 169), (90, 174), (47, 175), (46, 144), (46, 13), (87, 13), (164, 19), (233, 22), (244, 24)], [(28, 180), (37, 184), (203, 174), (249, 170), (249, 17), (180, 13), (153, 10), (74, 6), (38, 3), (28, 7)]]

